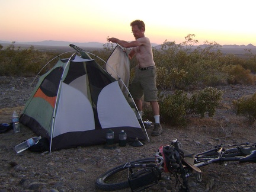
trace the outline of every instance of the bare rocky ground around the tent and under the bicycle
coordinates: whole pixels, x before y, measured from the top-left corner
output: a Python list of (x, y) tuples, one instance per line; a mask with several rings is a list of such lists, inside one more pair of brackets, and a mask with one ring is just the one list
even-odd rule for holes
[[(33, 78), (0, 77), (0, 123), (9, 123), (14, 110), (20, 112), (34, 88)], [(164, 124), (161, 136), (151, 137), (144, 146), (105, 149), (103, 145), (77, 147), (52, 153), (24, 151), (14, 146), (35, 136), (21, 125), (20, 133), (0, 134), (0, 192), (5, 191), (100, 191), (96, 178), (127, 161), (150, 157), (159, 146), (180, 140), (184, 149), (199, 153), (220, 143), (256, 142), (256, 127), (232, 110), (232, 100), (251, 95), (256, 86), (217, 87), (225, 90), (222, 103), (212, 118), (193, 117), (185, 127)], [(146, 119), (146, 117), (145, 117)], [(147, 130), (149, 136), (152, 129)], [(202, 167), (203, 181), (190, 177), (191, 191), (256, 191), (256, 164), (211, 164)], [(130, 191), (129, 189), (123, 191)], [(176, 191), (175, 183), (161, 181), (147, 191)]]

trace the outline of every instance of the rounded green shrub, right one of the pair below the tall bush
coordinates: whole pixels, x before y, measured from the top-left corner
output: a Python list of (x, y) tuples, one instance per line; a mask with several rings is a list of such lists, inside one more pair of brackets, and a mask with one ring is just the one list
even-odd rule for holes
[(216, 107), (222, 99), (223, 91), (213, 87), (204, 88), (197, 91), (190, 98), (190, 113), (199, 114), (201, 118), (208, 113), (209, 117), (213, 117)]

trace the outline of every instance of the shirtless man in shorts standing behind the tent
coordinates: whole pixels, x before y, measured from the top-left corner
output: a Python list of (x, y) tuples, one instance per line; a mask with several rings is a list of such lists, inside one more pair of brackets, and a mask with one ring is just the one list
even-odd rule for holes
[(158, 136), (162, 133), (162, 126), (159, 120), (159, 104), (157, 101), (158, 90), (156, 88), (156, 68), (153, 61), (153, 52), (150, 40), (145, 37), (145, 24), (141, 20), (135, 20), (130, 23), (132, 27), (132, 33), (135, 37), (135, 41), (124, 41), (111, 37), (108, 41), (120, 44), (120, 46), (131, 48), (129, 58), (132, 59), (136, 56), (137, 69), (135, 77), (130, 85), (130, 94), (135, 100), (135, 104), (139, 110), (137, 119), (140, 124), (143, 123), (140, 117), (142, 116), (142, 96), (144, 94), (144, 101), (150, 102), (155, 118), (154, 129), (152, 136)]

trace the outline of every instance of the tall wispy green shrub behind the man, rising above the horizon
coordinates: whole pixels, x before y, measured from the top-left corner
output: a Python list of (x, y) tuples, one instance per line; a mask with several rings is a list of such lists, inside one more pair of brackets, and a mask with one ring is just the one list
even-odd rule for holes
[[(166, 73), (171, 76), (172, 69), (175, 69), (176, 72), (182, 71), (182, 73), (176, 74), (185, 74), (185, 76), (183, 75), (182, 81), (175, 82), (174, 87), (183, 90), (225, 83), (227, 75), (220, 70), (223, 65), (220, 45), (216, 42), (205, 41), (203, 46), (195, 48), (193, 44), (198, 41), (194, 40), (193, 37), (194, 35), (189, 34), (185, 37), (185, 41), (180, 44), (166, 40), (159, 49), (153, 49), (158, 70), (162, 68), (164, 71), (161, 73), (164, 72), (164, 76)], [(158, 78), (158, 81), (159, 85), (168, 84), (167, 79), (162, 76), (161, 79)]]

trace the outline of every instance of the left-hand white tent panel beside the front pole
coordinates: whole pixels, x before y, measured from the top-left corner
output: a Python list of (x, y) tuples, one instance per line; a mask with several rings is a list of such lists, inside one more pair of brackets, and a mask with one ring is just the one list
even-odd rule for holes
[(62, 82), (53, 137), (67, 132), (94, 130), (91, 103), (81, 91)]

